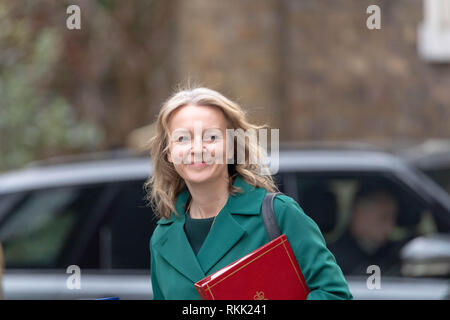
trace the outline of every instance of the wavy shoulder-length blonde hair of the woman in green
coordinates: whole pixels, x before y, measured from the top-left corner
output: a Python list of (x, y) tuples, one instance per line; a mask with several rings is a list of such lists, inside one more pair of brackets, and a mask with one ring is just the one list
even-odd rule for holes
[[(267, 129), (267, 125), (253, 125), (246, 119), (246, 112), (235, 102), (224, 97), (217, 91), (195, 87), (180, 89), (173, 94), (162, 106), (156, 120), (156, 132), (149, 141), (150, 157), (153, 163), (153, 175), (144, 184), (147, 191), (147, 199), (158, 218), (169, 219), (172, 212), (179, 214), (175, 209), (175, 202), (178, 194), (184, 189), (185, 182), (178, 175), (173, 163), (168, 161), (169, 152), (169, 116), (178, 108), (186, 105), (215, 106), (220, 108), (227, 120), (227, 129)], [(278, 188), (270, 174), (263, 157), (265, 150), (252, 139), (245, 142), (245, 163), (236, 161), (237, 139), (234, 136), (234, 163), (228, 164), (228, 174), (230, 177), (229, 192), (235, 195), (241, 192), (239, 188), (233, 186), (234, 178), (240, 175), (247, 183), (266, 189), (268, 192), (276, 192)], [(257, 164), (250, 163), (249, 154), (257, 156)], [(240, 161), (242, 162), (242, 161)], [(266, 171), (264, 171), (266, 170)]]

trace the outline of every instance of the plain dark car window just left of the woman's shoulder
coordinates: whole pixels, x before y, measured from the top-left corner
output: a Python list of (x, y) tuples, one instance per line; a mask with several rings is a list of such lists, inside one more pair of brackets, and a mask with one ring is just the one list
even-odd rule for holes
[(120, 191), (99, 229), (104, 269), (150, 269), (149, 243), (157, 219), (145, 200), (143, 185), (143, 180), (116, 184)]

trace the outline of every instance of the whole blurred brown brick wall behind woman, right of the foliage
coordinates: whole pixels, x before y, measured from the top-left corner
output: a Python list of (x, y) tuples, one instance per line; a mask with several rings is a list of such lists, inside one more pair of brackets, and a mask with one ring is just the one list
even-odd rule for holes
[[(366, 8), (381, 7), (381, 30)], [(421, 0), (180, 1), (177, 76), (236, 98), (282, 140), (449, 137), (450, 66), (422, 61)]]

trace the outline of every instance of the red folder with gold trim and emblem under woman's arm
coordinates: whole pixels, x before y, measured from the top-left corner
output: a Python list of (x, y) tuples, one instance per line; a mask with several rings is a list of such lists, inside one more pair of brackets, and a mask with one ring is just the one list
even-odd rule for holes
[(203, 300), (305, 300), (309, 289), (283, 234), (195, 283)]

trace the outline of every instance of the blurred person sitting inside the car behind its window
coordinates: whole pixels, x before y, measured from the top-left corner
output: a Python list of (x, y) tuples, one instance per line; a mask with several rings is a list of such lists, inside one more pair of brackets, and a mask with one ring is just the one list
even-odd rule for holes
[(366, 274), (370, 265), (382, 272), (392, 266), (399, 248), (390, 235), (398, 211), (398, 200), (387, 186), (361, 186), (346, 232), (329, 246), (344, 274)]

